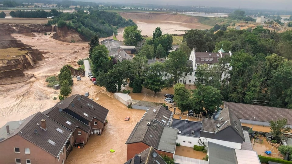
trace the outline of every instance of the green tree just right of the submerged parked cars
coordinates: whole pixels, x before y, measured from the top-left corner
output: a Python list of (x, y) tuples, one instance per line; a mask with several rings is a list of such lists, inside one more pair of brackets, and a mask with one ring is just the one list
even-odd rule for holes
[(176, 106), (179, 108), (179, 110), (183, 113), (185, 111), (188, 111), (192, 108), (191, 103), (191, 94), (189, 90), (185, 88), (185, 85), (182, 83), (177, 83), (174, 86), (174, 101), (176, 102)]

